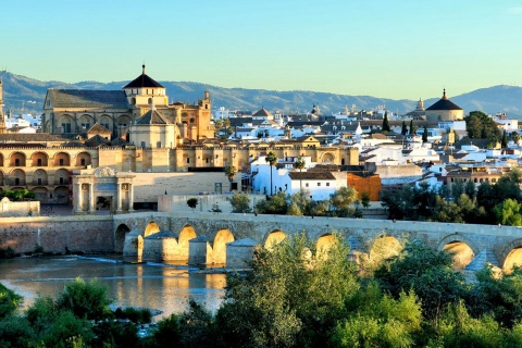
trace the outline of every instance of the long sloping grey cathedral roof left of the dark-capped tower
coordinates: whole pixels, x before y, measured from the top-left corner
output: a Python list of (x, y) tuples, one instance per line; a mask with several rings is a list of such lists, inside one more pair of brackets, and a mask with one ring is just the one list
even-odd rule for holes
[(48, 89), (54, 108), (128, 109), (123, 90)]

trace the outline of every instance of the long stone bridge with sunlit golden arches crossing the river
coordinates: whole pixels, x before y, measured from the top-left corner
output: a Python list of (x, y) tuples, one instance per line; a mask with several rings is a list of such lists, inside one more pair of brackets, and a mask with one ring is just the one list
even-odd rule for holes
[[(145, 259), (222, 264), (232, 246), (270, 247), (287, 235), (304, 233), (318, 245), (339, 234), (353, 254), (396, 254), (407, 240), (419, 240), (453, 253), (458, 269), (480, 270), (486, 263), (505, 270), (522, 264), (522, 228), (369, 219), (287, 215), (142, 212), (113, 216), (114, 249)], [(234, 243), (233, 243), (234, 241)], [(229, 248), (231, 247), (231, 248)], [(228, 251), (227, 251), (228, 250)], [(239, 256), (248, 254), (239, 252)], [(238, 256), (236, 256), (238, 257)], [(237, 261), (237, 260), (236, 260)]]

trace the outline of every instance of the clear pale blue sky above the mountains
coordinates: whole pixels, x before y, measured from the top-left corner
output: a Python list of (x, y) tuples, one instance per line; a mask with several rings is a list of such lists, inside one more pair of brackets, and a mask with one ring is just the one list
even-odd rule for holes
[(0, 7), (0, 69), (394, 99), (522, 84), (520, 0), (25, 0)]

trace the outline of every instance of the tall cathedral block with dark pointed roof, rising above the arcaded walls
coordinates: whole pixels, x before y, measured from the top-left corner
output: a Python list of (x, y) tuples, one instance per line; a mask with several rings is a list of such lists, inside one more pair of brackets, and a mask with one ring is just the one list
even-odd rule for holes
[(208, 91), (197, 104), (169, 103), (165, 88), (145, 72), (122, 90), (49, 89), (44, 102), (44, 133), (85, 140), (97, 125), (111, 144), (174, 148), (183, 139), (212, 138)]

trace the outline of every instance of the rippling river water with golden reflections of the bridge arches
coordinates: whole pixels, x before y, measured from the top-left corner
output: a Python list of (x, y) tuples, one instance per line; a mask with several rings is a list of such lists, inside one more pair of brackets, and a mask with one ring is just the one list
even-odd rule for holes
[(0, 283), (24, 296), (55, 298), (76, 277), (98, 278), (116, 306), (163, 311), (161, 318), (187, 309), (189, 298), (215, 311), (223, 299), (225, 275), (188, 272), (169, 264), (129, 264), (105, 258), (49, 257), (0, 260)]

